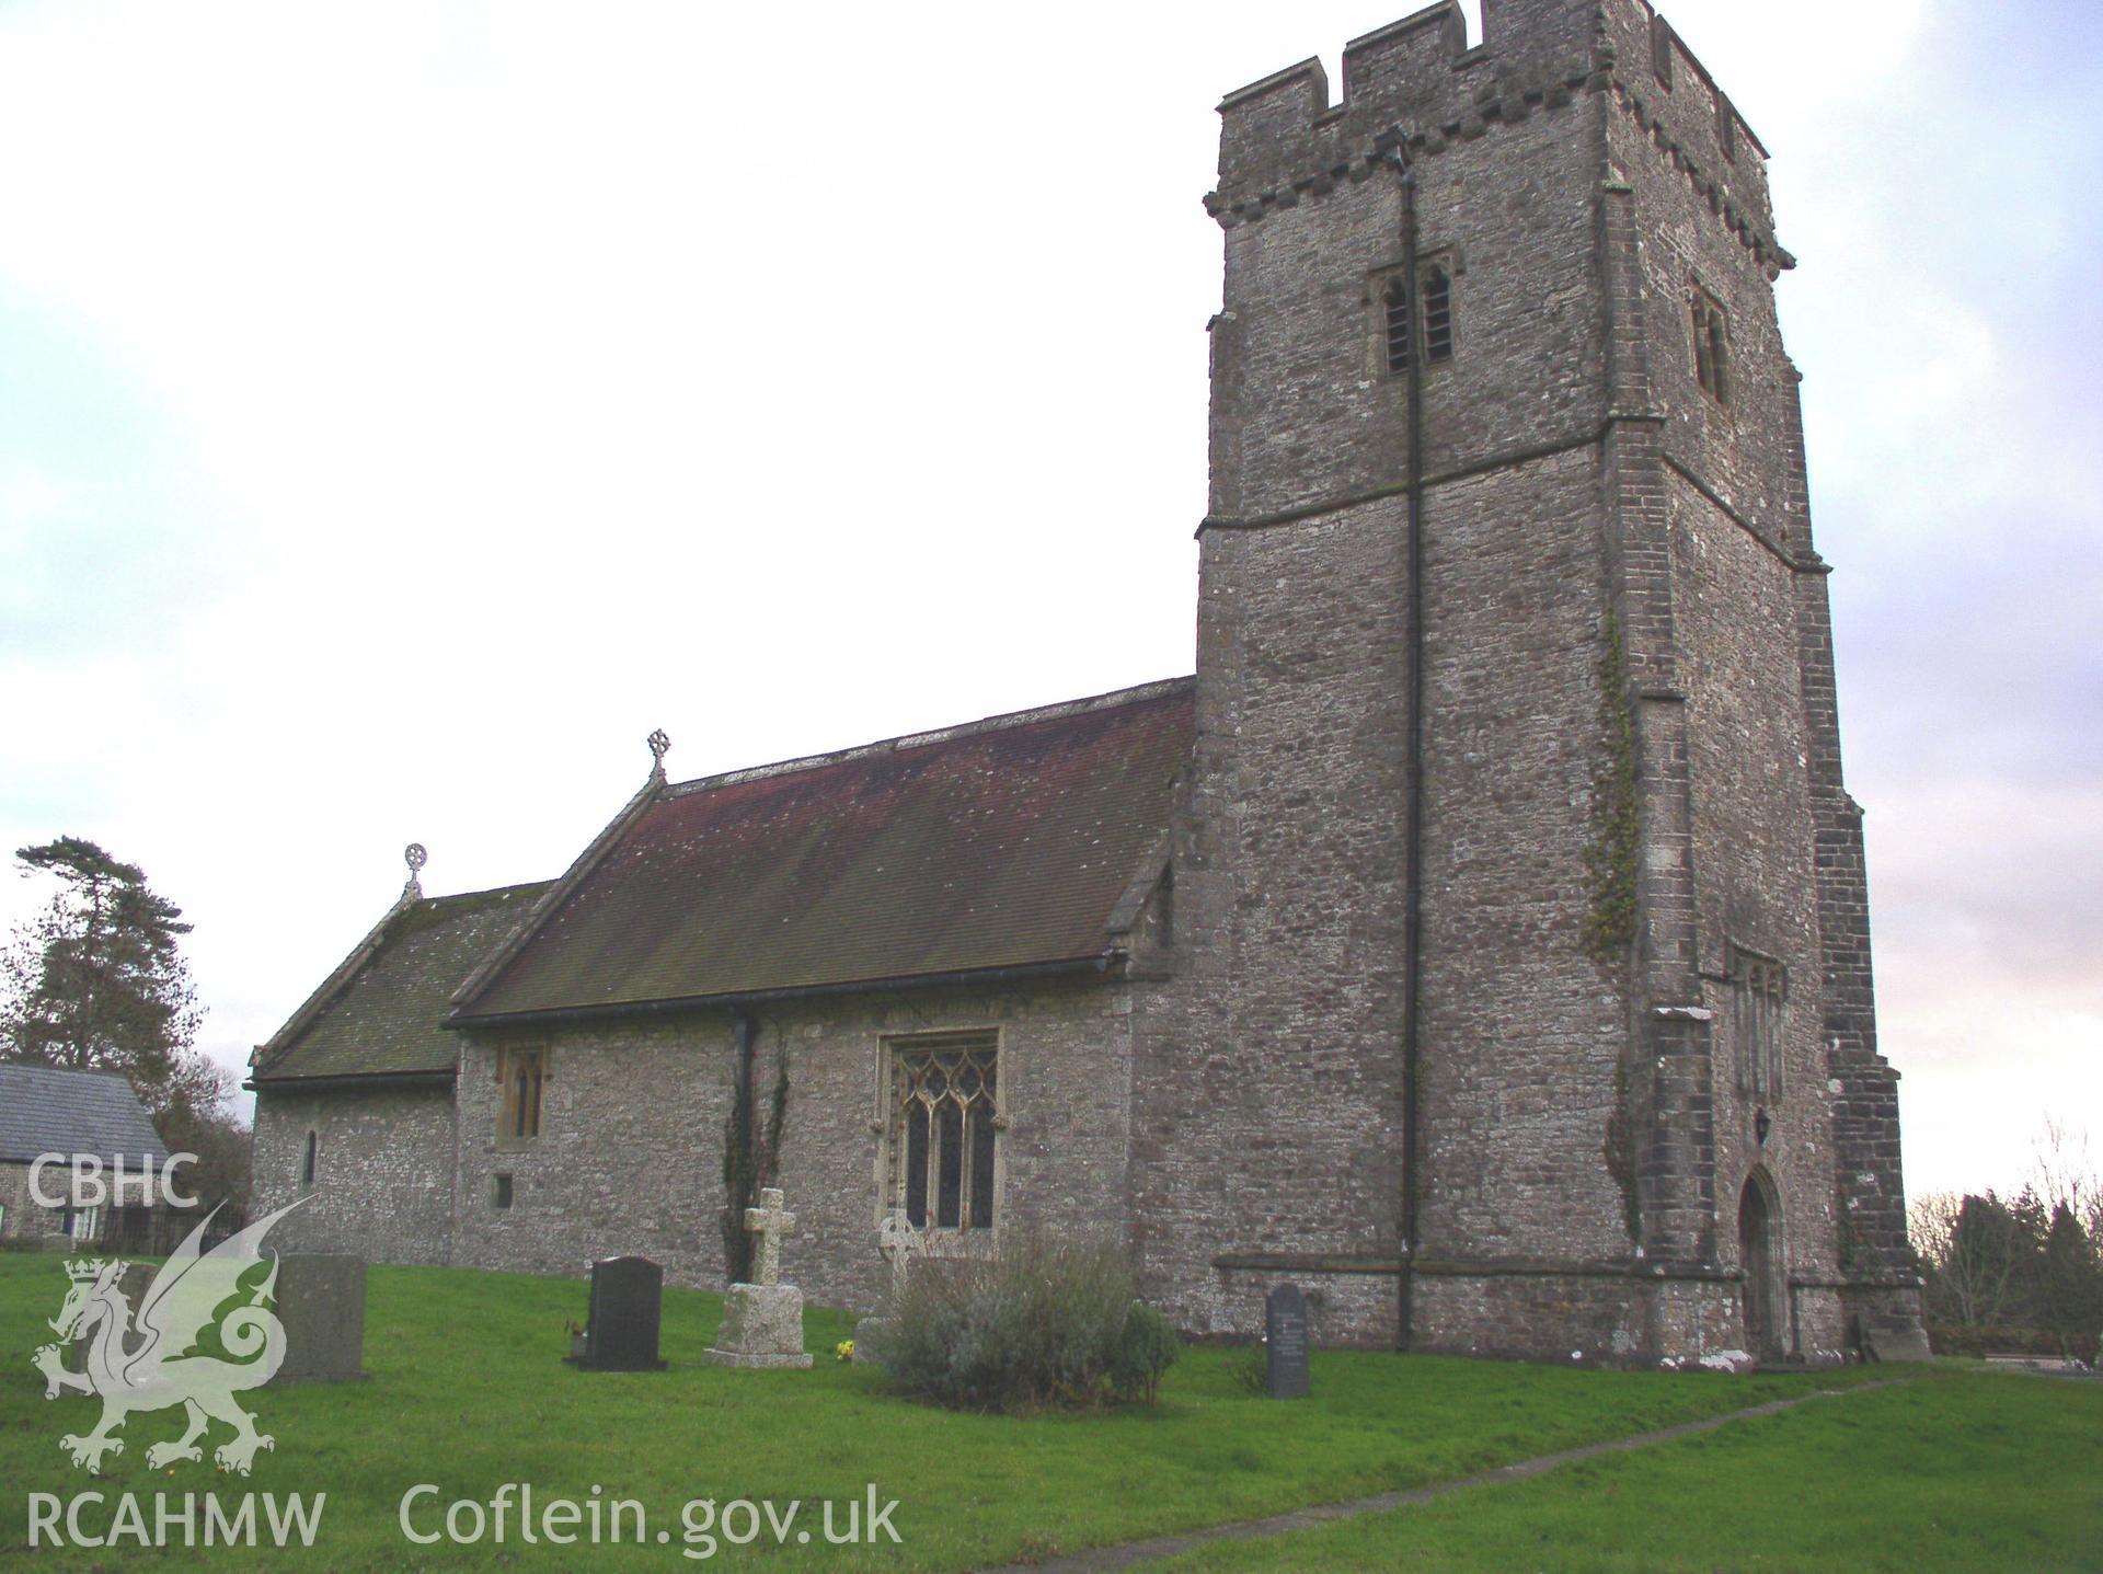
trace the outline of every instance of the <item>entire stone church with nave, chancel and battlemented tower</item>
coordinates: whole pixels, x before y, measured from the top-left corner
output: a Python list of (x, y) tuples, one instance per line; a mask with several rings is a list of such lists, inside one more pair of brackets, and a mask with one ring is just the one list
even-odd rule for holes
[(1220, 103), (1195, 675), (412, 848), (254, 1052), (288, 1244), (721, 1286), (780, 1185), (822, 1305), (902, 1210), (1199, 1336), (1920, 1349), (1767, 154), (1645, 0), (1483, 11)]

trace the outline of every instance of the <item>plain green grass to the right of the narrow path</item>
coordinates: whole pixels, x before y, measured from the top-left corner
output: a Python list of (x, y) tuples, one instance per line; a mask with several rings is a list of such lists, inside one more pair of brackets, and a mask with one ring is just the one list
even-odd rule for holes
[(2103, 1568), (2103, 1387), (1937, 1374), (1148, 1570)]

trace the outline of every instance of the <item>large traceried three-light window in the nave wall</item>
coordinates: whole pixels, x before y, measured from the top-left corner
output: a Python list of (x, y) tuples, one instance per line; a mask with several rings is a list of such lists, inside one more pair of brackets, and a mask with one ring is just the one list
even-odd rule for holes
[(892, 1208), (915, 1229), (991, 1231), (999, 1193), (999, 1037), (892, 1040)]

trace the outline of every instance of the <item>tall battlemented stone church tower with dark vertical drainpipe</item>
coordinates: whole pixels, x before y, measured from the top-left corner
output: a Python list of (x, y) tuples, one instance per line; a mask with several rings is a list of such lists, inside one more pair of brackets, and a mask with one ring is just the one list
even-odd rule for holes
[[(1764, 149), (1642, 0), (1220, 105), (1178, 976), (1129, 1216), (1197, 1328), (1918, 1340)], [(1230, 1242), (1222, 1250), (1222, 1239)]]

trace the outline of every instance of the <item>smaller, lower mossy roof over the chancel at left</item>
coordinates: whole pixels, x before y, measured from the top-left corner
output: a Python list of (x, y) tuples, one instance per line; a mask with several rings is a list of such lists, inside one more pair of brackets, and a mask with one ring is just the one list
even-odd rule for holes
[(551, 884), (395, 905), (257, 1050), (252, 1082), (450, 1073), (458, 1042), (440, 1023), (452, 991)]

